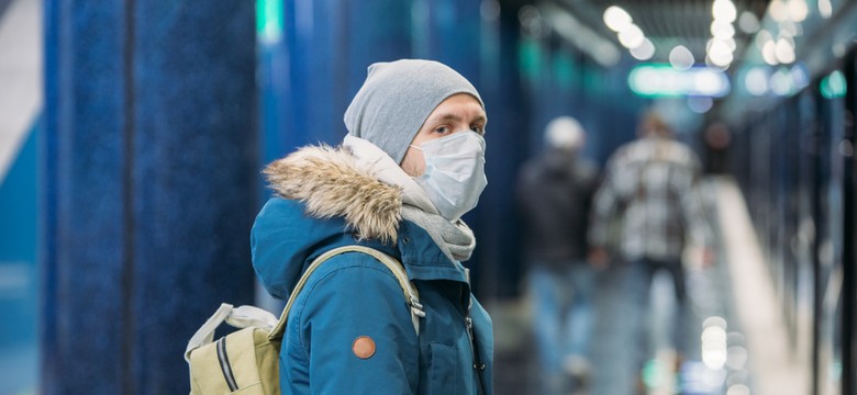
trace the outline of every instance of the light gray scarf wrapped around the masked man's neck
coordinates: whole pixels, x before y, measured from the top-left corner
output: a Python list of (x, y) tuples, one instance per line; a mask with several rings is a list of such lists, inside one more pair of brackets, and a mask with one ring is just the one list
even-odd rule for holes
[(453, 261), (466, 261), (476, 248), (474, 232), (458, 219), (455, 223), (441, 216), (422, 188), (399, 165), (374, 144), (346, 135), (343, 146), (350, 149), (357, 165), (370, 170), (379, 180), (401, 187), (402, 217), (429, 233), (432, 240)]

